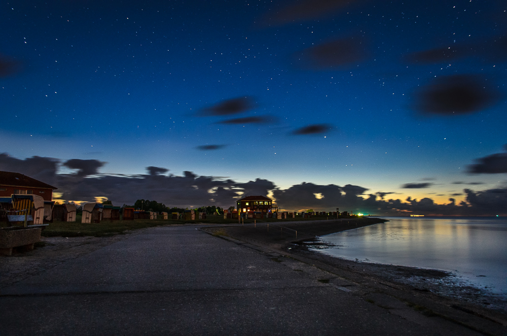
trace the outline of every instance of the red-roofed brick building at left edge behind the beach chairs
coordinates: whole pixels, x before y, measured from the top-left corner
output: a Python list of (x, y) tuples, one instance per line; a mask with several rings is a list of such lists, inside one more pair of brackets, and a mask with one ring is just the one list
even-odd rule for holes
[(44, 200), (53, 200), (55, 189), (58, 188), (20, 173), (0, 172), (0, 197), (11, 197), (12, 194), (34, 194), (41, 196)]

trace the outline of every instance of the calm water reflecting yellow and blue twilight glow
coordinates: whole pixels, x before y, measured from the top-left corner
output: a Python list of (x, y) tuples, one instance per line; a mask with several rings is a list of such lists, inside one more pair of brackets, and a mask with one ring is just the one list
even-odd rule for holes
[(507, 296), (507, 218), (383, 217), (389, 222), (328, 234), (345, 259), (452, 271)]

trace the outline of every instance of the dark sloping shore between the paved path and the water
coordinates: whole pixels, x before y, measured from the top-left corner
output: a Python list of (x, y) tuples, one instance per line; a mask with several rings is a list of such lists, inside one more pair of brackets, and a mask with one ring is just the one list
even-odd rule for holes
[[(309, 249), (310, 246), (318, 246), (318, 243), (311, 243), (316, 241), (318, 236), (388, 221), (380, 218), (365, 219), (365, 221), (342, 220), (348, 223), (340, 223), (339, 220), (279, 223), (288, 229), (286, 232), (283, 232), (283, 228), (280, 230), (273, 227), (271, 223), (269, 230), (267, 223), (202, 229), (211, 233), (216, 232), (225, 239), (232, 238), (268, 248), (284, 256), (317, 266), (362, 287), (367, 292), (381, 292), (417, 307), (425, 307), (423, 313), (431, 312), (451, 318), (453, 311), (460, 310), (507, 326), (507, 300), (500, 295), (469, 285), (452, 272), (353, 261)], [(297, 238), (292, 230), (298, 230)], [(322, 245), (325, 246), (325, 243)]]

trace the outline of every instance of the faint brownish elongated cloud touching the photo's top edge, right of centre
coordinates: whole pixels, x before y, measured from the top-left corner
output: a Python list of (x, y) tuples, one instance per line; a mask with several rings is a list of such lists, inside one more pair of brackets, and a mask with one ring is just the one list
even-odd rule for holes
[(342, 8), (358, 1), (350, 0), (304, 0), (273, 10), (261, 19), (263, 26), (284, 25), (288, 23), (319, 19), (330, 16)]

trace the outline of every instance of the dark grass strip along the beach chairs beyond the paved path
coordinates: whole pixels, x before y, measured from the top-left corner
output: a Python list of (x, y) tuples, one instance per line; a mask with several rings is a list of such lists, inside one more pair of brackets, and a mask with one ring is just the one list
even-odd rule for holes
[[(289, 222), (289, 221), (308, 221), (308, 220), (325, 220), (332, 219), (328, 216), (314, 216), (312, 218), (287, 218), (287, 219), (257, 219), (260, 222)], [(244, 220), (244, 223), (253, 223), (253, 219)], [(42, 231), (44, 237), (109, 237), (114, 234), (122, 234), (126, 230), (141, 229), (160, 225), (182, 225), (182, 224), (237, 224), (238, 219), (224, 219), (223, 216), (211, 215), (206, 219), (197, 219), (194, 221), (176, 220), (176, 219), (136, 219), (136, 220), (118, 220), (108, 221), (104, 220), (100, 223), (83, 224), (81, 223), (81, 216), (77, 216), (76, 222), (58, 222), (55, 221), (46, 226)]]

